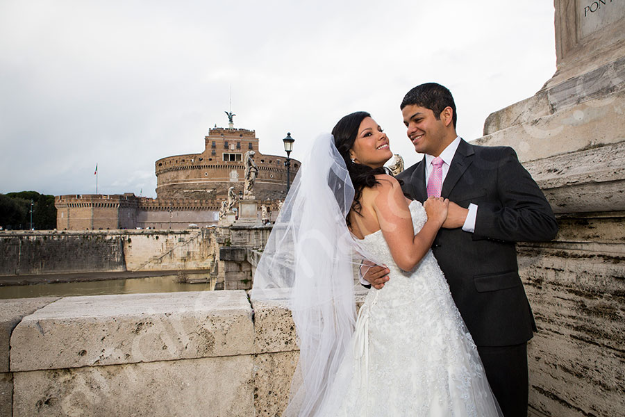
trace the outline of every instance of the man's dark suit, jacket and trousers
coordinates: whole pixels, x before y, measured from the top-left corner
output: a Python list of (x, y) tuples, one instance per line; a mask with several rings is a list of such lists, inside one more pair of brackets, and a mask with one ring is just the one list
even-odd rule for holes
[[(403, 193), (419, 202), (427, 199), (425, 168), (423, 158), (397, 176), (403, 181)], [(432, 248), (453, 300), (480, 349), (497, 400), (504, 411), (519, 407), (504, 404), (507, 400), (497, 393), (502, 387), (494, 386), (505, 382), (506, 377), (515, 378), (495, 375), (515, 372), (503, 366), (515, 359), (506, 359), (506, 354), (497, 351), (499, 347), (522, 346), (517, 357), (523, 356), (525, 343), (536, 329), (519, 278), (515, 242), (553, 239), (558, 231), (556, 219), (542, 191), (510, 147), (482, 147), (461, 140), (441, 196), (463, 208), (470, 203), (478, 206), (474, 233), (461, 228), (440, 229)], [(485, 358), (485, 352), (495, 352), (498, 359)], [(527, 386), (523, 359), (524, 366), (512, 368), (525, 373), (524, 377), (516, 377)]]

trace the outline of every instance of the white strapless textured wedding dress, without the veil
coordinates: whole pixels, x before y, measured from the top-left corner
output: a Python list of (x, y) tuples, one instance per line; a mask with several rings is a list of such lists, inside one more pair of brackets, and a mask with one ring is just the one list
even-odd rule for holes
[[(410, 203), (415, 233), (426, 222)], [(381, 290), (360, 307), (352, 348), (344, 355), (318, 416), (501, 415), (482, 363), (431, 251), (410, 272), (394, 263), (381, 233), (367, 250), (390, 269)]]

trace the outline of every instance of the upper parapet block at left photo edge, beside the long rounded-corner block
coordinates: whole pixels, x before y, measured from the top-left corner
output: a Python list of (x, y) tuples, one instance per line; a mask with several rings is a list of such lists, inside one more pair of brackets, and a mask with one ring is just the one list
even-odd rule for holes
[(15, 298), (0, 300), (0, 373), (9, 371), (11, 333), (28, 314), (58, 300), (59, 297)]

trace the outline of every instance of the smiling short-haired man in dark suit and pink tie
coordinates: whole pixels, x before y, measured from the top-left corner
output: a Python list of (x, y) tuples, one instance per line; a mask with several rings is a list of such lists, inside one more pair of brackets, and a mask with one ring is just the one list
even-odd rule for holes
[[(527, 341), (536, 330), (519, 278), (515, 242), (551, 240), (558, 225), (547, 199), (510, 147), (470, 145), (456, 134), (456, 105), (442, 85), (412, 88), (403, 123), (419, 163), (397, 176), (410, 199), (449, 198), (432, 250), (478, 347), (506, 417), (526, 416)], [(381, 288), (388, 270), (365, 279)]]

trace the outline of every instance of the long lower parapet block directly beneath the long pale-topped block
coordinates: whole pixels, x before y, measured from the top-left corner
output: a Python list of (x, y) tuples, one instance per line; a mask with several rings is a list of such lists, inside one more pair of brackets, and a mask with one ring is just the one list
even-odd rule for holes
[(13, 416), (253, 416), (251, 355), (15, 373)]

